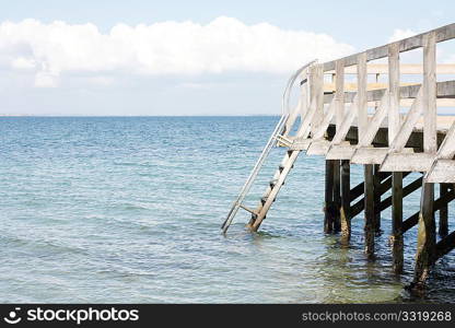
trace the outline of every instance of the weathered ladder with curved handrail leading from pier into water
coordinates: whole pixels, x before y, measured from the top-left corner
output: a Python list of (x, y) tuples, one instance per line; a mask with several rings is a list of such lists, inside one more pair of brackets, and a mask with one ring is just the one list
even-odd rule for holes
[(257, 160), (255, 166), (253, 167), (252, 173), (249, 174), (247, 180), (243, 185), (241, 192), (238, 194), (236, 200), (231, 207), (231, 210), (229, 211), (228, 218), (224, 220), (221, 230), (225, 234), (228, 232), (228, 229), (230, 227), (232, 221), (234, 220), (235, 214), (237, 213), (238, 209), (244, 209), (252, 213), (252, 220), (249, 222), (249, 226), (253, 231), (256, 231), (259, 226), (260, 222), (266, 216), (266, 213), (268, 209), (270, 208), (271, 203), (273, 202), (279, 189), (284, 183), (284, 178), (288, 175), (289, 171), (292, 168), (293, 163), (296, 160), (296, 156), (299, 155), (300, 151), (288, 151), (287, 155), (284, 156), (283, 161), (281, 162), (281, 165), (279, 166), (278, 171), (273, 175), (273, 179), (270, 181), (269, 187), (266, 190), (266, 194), (262, 196), (260, 200), (260, 204), (256, 210), (252, 210), (243, 204), (243, 201), (248, 194), (249, 189), (253, 186), (253, 183), (255, 181), (260, 168), (262, 167), (264, 162), (266, 161), (267, 156), (269, 155), (271, 149), (276, 144), (276, 142), (283, 143), (285, 145), (291, 145), (292, 140), (289, 140), (283, 134), (285, 131), (285, 125), (288, 122), (288, 119), (290, 117), (290, 110), (289, 110), (289, 103), (290, 103), (290, 94), (291, 90), (295, 83), (295, 80), (299, 78), (299, 75), (307, 69), (310, 66), (315, 63), (316, 60), (312, 60), (308, 63), (301, 67), (299, 70), (295, 71), (294, 74), (289, 79), (287, 87), (284, 90), (283, 96), (282, 96), (282, 115), (280, 120), (278, 121), (277, 126), (273, 129), (273, 132), (271, 133), (269, 140), (266, 143), (266, 147), (264, 148), (262, 152), (260, 153), (259, 159)]

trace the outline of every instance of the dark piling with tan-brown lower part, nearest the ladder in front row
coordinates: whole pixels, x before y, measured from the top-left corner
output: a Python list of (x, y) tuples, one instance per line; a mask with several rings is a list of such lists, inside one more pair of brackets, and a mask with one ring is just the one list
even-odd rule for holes
[(349, 160), (341, 161), (341, 242), (351, 238), (351, 164)]

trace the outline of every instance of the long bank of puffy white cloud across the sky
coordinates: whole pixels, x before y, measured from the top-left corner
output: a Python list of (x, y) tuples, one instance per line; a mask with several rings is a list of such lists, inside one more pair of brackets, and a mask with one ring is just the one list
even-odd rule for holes
[(36, 86), (56, 86), (62, 73), (201, 74), (229, 71), (291, 72), (318, 58), (352, 52), (326, 34), (246, 25), (218, 17), (207, 25), (162, 22), (115, 25), (102, 34), (91, 23), (44, 24), (36, 20), (0, 24), (0, 65), (34, 69)]

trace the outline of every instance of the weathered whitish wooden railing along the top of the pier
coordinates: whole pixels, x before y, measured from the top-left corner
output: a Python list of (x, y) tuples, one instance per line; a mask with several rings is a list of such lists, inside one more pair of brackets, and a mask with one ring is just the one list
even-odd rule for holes
[[(452, 38), (455, 24), (310, 67), (302, 73), (304, 92), (287, 122), (285, 137), (294, 138), (293, 149), (354, 164), (381, 164), (383, 171), (428, 172), (436, 159), (438, 107), (455, 107), (455, 81), (436, 82), (436, 74), (455, 74), (455, 65), (436, 65), (435, 56), (436, 44)], [(422, 63), (400, 63), (401, 52), (418, 48), (423, 50)], [(380, 59), (387, 63), (370, 63)], [(369, 74), (376, 81), (369, 83)], [(415, 75), (417, 81), (401, 82), (404, 75)], [(409, 107), (406, 116), (400, 114), (402, 107)], [(298, 132), (289, 136), (299, 115)], [(329, 126), (336, 131), (331, 140), (326, 138)], [(352, 126), (358, 130), (357, 144), (346, 140)], [(373, 148), (381, 127), (387, 128), (388, 145)], [(419, 128), (422, 153), (406, 148)]]

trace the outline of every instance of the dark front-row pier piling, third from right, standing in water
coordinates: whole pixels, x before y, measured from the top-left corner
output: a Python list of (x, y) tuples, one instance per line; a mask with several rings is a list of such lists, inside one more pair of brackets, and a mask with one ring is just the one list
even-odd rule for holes
[(364, 165), (364, 178), (365, 178), (365, 254), (369, 258), (374, 257), (374, 236), (375, 236), (375, 224), (374, 224), (374, 181), (373, 181), (373, 165)]

